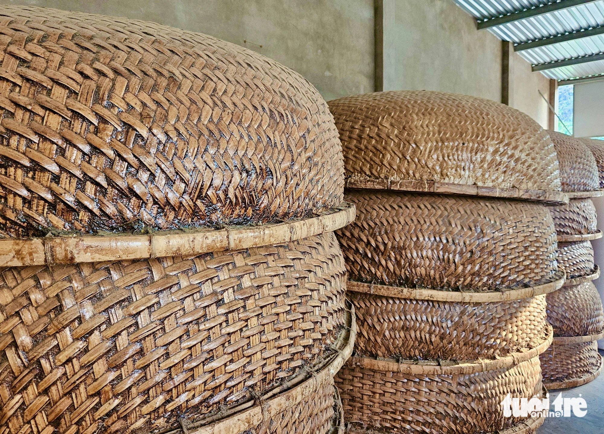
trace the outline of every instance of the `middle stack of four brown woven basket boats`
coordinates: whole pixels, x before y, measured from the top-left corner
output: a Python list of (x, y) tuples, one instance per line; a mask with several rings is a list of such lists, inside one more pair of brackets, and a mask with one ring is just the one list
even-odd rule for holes
[(507, 106), (440, 92), (329, 103), (356, 221), (336, 232), (358, 334), (336, 377), (351, 433), (533, 432), (545, 294), (564, 273), (553, 143)]

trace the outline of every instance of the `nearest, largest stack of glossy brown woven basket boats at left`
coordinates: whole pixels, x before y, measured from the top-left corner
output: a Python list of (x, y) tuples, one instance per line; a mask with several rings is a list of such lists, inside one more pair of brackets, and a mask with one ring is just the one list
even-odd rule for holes
[(158, 24), (0, 21), (0, 433), (340, 426), (355, 209), (316, 89)]

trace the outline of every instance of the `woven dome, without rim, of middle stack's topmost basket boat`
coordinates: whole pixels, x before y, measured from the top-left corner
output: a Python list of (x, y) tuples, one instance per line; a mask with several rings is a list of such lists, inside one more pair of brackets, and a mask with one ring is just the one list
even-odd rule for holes
[(347, 177), (561, 189), (556, 152), (532, 118), (490, 100), (427, 91), (329, 102)]

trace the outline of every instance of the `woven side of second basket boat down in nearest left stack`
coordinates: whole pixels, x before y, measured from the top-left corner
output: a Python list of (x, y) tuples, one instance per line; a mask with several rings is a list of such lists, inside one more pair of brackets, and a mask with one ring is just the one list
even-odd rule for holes
[[(6, 268), (0, 427), (92, 434), (250, 400), (330, 354), (344, 326), (344, 273), (333, 233), (191, 257)], [(304, 412), (333, 404), (313, 402)], [(308, 414), (317, 429), (329, 418)], [(279, 424), (290, 426), (287, 417)]]

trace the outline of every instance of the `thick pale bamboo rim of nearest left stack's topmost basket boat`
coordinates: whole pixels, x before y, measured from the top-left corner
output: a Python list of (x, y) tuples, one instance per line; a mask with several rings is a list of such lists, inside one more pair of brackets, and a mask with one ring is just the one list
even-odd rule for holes
[(355, 221), (355, 206), (345, 203), (313, 218), (262, 226), (170, 230), (149, 235), (46, 236), (0, 239), (0, 267), (123, 261), (184, 256), (281, 244), (333, 232)]

